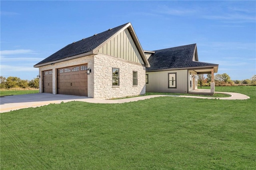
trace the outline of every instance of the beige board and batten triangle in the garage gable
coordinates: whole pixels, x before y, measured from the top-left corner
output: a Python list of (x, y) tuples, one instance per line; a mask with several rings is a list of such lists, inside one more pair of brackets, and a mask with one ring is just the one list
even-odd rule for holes
[(128, 29), (125, 29), (106, 42), (106, 44), (99, 49), (99, 53), (144, 64)]

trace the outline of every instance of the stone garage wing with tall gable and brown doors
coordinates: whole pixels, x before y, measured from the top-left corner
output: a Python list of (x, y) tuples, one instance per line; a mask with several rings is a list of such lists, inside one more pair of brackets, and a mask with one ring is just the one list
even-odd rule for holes
[(131, 23), (70, 43), (34, 65), (40, 93), (104, 99), (146, 93), (149, 66)]

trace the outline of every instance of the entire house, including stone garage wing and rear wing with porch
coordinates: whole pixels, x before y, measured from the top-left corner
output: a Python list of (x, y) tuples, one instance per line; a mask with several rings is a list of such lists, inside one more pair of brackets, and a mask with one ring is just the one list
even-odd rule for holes
[(214, 77), (218, 71), (218, 65), (198, 61), (196, 44), (144, 51), (131, 23), (70, 43), (34, 67), (40, 93), (104, 99), (189, 93), (197, 88), (197, 74)]

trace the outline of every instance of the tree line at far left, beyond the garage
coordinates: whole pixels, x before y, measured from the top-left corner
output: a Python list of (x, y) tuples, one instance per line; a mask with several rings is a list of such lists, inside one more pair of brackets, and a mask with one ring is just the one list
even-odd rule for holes
[(12, 89), (12, 88), (34, 88), (39, 89), (39, 79), (34, 78), (32, 80), (22, 80), (19, 77), (7, 77), (0, 76), (0, 88)]

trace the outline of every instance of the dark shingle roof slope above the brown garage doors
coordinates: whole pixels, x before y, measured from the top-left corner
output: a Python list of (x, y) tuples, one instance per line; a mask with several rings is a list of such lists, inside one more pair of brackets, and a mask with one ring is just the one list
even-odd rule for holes
[(60, 49), (56, 53), (50, 55), (46, 59), (40, 61), (36, 65), (49, 63), (52, 61), (56, 61), (56, 60), (60, 60), (67, 57), (72, 57), (74, 55), (79, 55), (82, 53), (92, 51), (93, 49), (95, 49), (96, 47), (104, 43), (106, 40), (108, 40), (108, 38), (116, 34), (116, 32), (124, 28), (124, 26), (126, 26), (127, 24), (128, 23), (118, 26), (116, 28), (112, 28), (111, 30), (107, 30), (105, 32), (99, 33), (96, 36), (91, 36), (83, 40), (80, 40), (78, 42), (71, 43), (66, 47)]

